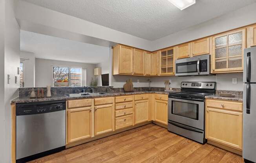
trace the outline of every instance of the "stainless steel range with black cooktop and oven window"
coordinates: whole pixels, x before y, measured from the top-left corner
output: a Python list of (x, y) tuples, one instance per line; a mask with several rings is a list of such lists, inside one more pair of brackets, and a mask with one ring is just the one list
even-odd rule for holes
[(205, 96), (215, 94), (216, 82), (182, 82), (181, 92), (168, 98), (168, 130), (205, 143)]

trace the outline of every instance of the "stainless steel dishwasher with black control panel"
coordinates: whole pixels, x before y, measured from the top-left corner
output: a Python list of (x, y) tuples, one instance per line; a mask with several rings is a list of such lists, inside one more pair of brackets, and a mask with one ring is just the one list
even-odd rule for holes
[(16, 163), (24, 163), (66, 145), (66, 101), (16, 104)]

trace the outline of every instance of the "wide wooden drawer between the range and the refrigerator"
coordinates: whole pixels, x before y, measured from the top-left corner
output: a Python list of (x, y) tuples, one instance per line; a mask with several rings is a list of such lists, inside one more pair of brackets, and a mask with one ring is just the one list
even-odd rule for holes
[(243, 103), (233, 101), (207, 100), (207, 107), (243, 111)]

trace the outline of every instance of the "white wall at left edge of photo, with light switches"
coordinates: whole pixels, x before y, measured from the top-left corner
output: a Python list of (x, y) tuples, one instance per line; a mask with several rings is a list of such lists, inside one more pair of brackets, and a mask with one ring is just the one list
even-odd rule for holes
[[(11, 100), (18, 96), (19, 87), (19, 78), (15, 84), (15, 76), (20, 63), (20, 29), (14, 7), (14, 0), (0, 0), (0, 75), (4, 76), (0, 82), (0, 158), (3, 163), (11, 162)], [(9, 84), (7, 74), (11, 78)]]

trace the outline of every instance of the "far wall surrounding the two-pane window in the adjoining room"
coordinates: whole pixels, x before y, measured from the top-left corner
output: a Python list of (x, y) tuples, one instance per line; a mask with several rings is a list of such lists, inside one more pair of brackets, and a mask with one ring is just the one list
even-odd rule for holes
[(52, 80), (53, 65), (85, 68), (86, 69), (86, 86), (90, 85), (91, 78), (94, 76), (93, 69), (96, 67), (95, 64), (90, 64), (90, 63), (66, 62), (66, 61), (45, 60), (45, 59), (36, 58), (35, 87), (46, 87), (47, 85), (53, 85), (53, 80)]

